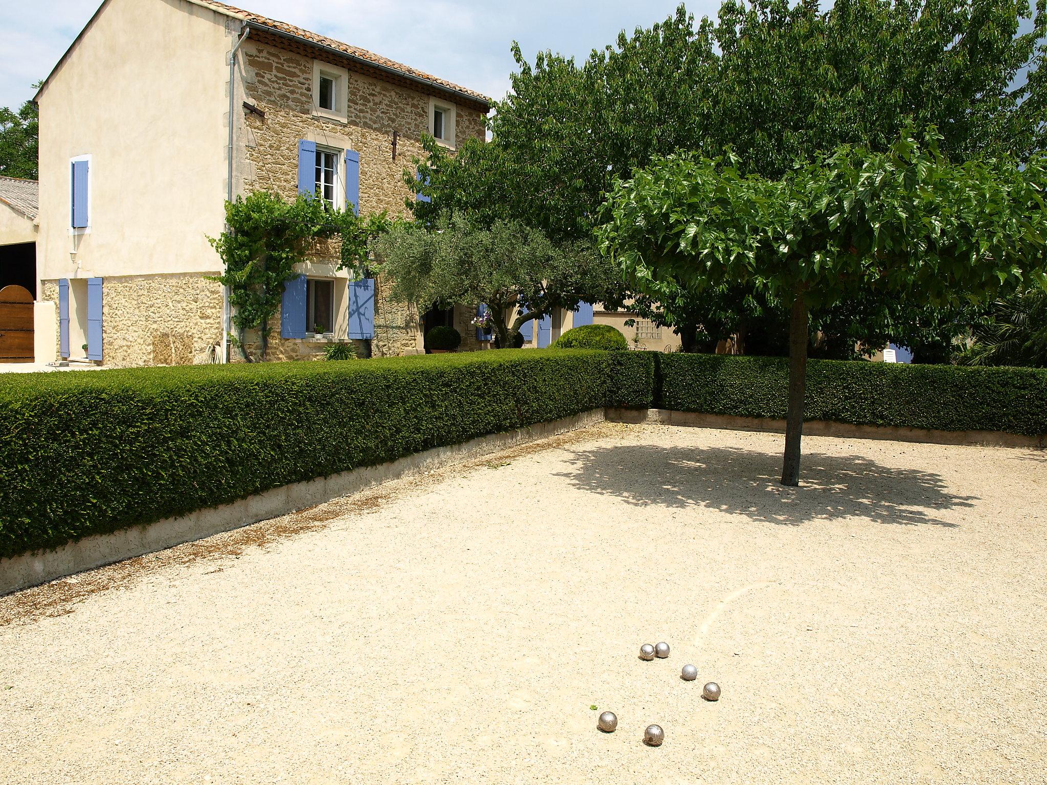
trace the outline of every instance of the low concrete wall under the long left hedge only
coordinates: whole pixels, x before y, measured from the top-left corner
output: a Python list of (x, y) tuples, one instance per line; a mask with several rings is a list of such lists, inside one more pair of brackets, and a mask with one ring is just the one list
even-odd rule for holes
[(578, 428), (586, 428), (603, 421), (603, 409), (593, 409), (508, 433), (493, 433), (459, 445), (437, 447), (380, 466), (369, 466), (308, 483), (281, 486), (229, 504), (197, 510), (180, 518), (164, 518), (141, 526), (121, 529), (112, 534), (92, 535), (55, 551), (0, 559), (0, 595), (154, 551), (162, 551), (213, 534), (240, 529), (260, 520), (275, 518), (339, 496), (357, 493), (378, 483), (423, 474), (450, 464)]

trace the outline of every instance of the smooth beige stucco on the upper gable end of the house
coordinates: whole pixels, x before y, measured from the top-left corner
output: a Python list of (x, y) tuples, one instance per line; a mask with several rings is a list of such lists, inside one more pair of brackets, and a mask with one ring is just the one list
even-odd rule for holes
[[(219, 268), (205, 236), (223, 224), (230, 40), (185, 0), (105, 3), (39, 96), (42, 279)], [(82, 155), (91, 226), (74, 236)]]

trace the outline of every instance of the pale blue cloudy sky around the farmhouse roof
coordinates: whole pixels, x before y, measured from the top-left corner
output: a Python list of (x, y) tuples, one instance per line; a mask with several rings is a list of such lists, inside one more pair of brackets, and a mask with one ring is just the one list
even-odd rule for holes
[[(163, 0), (156, 0), (162, 2)], [(31, 98), (101, 0), (0, 0), (0, 106)], [(502, 97), (519, 41), (533, 60), (540, 49), (582, 59), (612, 43), (619, 30), (648, 27), (677, 0), (483, 2), (482, 0), (226, 0), (378, 52), (474, 90)], [(718, 0), (692, 1), (696, 17)]]

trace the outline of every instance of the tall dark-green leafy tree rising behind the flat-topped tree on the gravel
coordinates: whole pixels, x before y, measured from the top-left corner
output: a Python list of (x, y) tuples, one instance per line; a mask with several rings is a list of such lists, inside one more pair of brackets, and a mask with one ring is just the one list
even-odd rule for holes
[[(1032, 22), (1024, 33), (1023, 20)], [(697, 23), (681, 5), (581, 63), (547, 51), (532, 64), (514, 46), (517, 72), (492, 118), (493, 141), (467, 143), (456, 158), (430, 143), (423, 170), (432, 201), (416, 215), (465, 210), (554, 239), (585, 237), (615, 182), (658, 156), (730, 148), (741, 174), (780, 178), (840, 144), (884, 152), (910, 125), (936, 126), (957, 162), (1024, 160), (1045, 133), (1044, 25), (1042, 8), (1013, 0), (838, 0), (824, 10), (729, 0)], [(1023, 68), (1028, 80), (1016, 82)], [(774, 312), (788, 318), (775, 296), (736, 284), (698, 294), (684, 279), (658, 283), (645, 315), (688, 344), (699, 327), (708, 336), (729, 324), (756, 329)], [(816, 309), (820, 329), (872, 343), (912, 319), (936, 321), (918, 304), (903, 311), (863, 297), (862, 319)]]

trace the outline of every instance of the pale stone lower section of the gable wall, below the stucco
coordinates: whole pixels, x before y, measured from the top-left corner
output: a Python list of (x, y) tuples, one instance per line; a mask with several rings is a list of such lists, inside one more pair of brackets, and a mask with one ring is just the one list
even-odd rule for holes
[[(54, 302), (57, 314), (58, 282), (41, 284), (41, 299)], [(205, 363), (221, 340), (219, 284), (199, 273), (104, 278), (102, 363), (106, 367)]]

